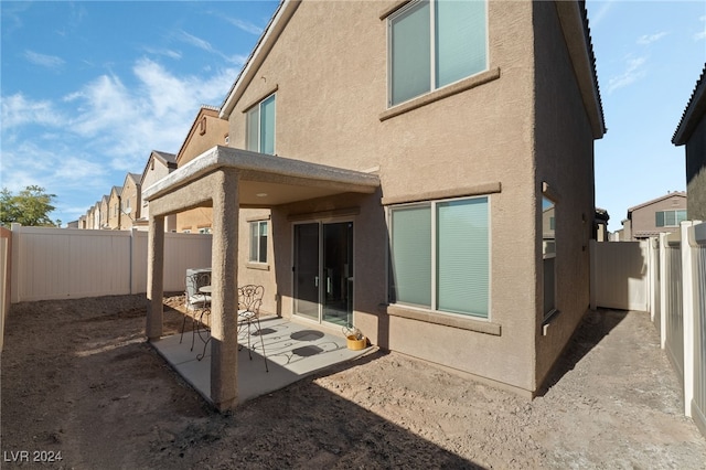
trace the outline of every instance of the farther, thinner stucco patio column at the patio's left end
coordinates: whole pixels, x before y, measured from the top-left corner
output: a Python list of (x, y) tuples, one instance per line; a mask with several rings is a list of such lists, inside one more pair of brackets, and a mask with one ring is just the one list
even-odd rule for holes
[(150, 341), (162, 337), (164, 313), (164, 217), (150, 216), (147, 247), (147, 325), (145, 332)]

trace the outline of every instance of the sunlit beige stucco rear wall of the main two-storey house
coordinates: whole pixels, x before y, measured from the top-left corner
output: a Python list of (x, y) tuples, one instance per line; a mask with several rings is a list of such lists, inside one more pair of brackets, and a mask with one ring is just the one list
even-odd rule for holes
[[(354, 220), (356, 325), (385, 348), (532, 392), (542, 300), (533, 4), (489, 3), (489, 66), (500, 71), (499, 78), (381, 120), (387, 110), (387, 23), (379, 19), (385, 4), (302, 2), (231, 115), (232, 146), (245, 147), (244, 111), (277, 90), (277, 154), (377, 171), (382, 194), (354, 199), (361, 207)], [(463, 195), (488, 183), (500, 183), (502, 191), (490, 195), (490, 320), (475, 323), (492, 323), (500, 335), (388, 316), (379, 196), (413, 200), (440, 190)], [(274, 259), (291, 263), (291, 214), (352, 203), (333, 197), (272, 211)], [(281, 311), (290, 314), (290, 266), (277, 276), (270, 290), (279, 291)]]

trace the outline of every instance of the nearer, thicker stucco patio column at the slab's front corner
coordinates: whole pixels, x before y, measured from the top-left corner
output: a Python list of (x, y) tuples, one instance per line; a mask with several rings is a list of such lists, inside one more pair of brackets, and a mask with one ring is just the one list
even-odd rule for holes
[(214, 174), (211, 255), (211, 399), (225, 410), (237, 402), (238, 172)]

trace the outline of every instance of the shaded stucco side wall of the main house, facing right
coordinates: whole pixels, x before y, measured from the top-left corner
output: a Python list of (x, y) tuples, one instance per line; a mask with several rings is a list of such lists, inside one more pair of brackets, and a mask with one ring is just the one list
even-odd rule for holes
[[(535, 249), (537, 276), (536, 382), (541, 386), (589, 308), (589, 238), (592, 237), (593, 139), (580, 90), (554, 2), (534, 2), (537, 34), (534, 38), (536, 66), (536, 180), (534, 191), (543, 194), (547, 183), (556, 199), (556, 307), (543, 328), (544, 277), (541, 234)], [(539, 34), (541, 32), (541, 34)], [(537, 222), (541, 221), (537, 211)]]

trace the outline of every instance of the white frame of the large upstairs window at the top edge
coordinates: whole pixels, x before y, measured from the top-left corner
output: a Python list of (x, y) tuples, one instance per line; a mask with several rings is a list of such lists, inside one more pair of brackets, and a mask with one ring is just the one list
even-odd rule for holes
[[(392, 108), (398, 105), (402, 105), (403, 103), (407, 103), (409, 100), (419, 98), (420, 96), (425, 96), (428, 95), (430, 93), (434, 93), (438, 89), (442, 89), (446, 87), (449, 87), (456, 83), (459, 83), (470, 76), (474, 76), (478, 75), (480, 73), (486, 72), (490, 67), (490, 32), (489, 32), (489, 19), (488, 19), (488, 3), (489, 0), (484, 0), (484, 6), (485, 6), (485, 66), (483, 67), (482, 71), (478, 71), (474, 74), (471, 74), (467, 77), (460, 78), (457, 82), (453, 83), (449, 83), (447, 85), (443, 85), (441, 87), (437, 86), (437, 65), (436, 65), (436, 3), (438, 0), (413, 0), (410, 1), (408, 4), (404, 6), (403, 8), (400, 8), (399, 10), (395, 11), (394, 13), (392, 13), (391, 15), (387, 17), (387, 107)], [(393, 104), (393, 34), (392, 34), (392, 30), (393, 30), (393, 22), (396, 18), (400, 17), (402, 14), (406, 13), (407, 11), (416, 8), (416, 6), (418, 6), (419, 3), (422, 2), (428, 2), (429, 3), (429, 35), (430, 35), (430, 42), (429, 42), (429, 47), (430, 47), (430, 53), (429, 53), (429, 70), (430, 70), (430, 81), (429, 81), (429, 90), (422, 93), (421, 95), (417, 95), (417, 96), (413, 96), (410, 98), (407, 98), (405, 100), (402, 100), (399, 103), (394, 103)]]

